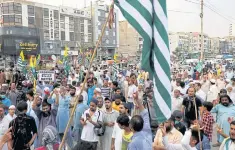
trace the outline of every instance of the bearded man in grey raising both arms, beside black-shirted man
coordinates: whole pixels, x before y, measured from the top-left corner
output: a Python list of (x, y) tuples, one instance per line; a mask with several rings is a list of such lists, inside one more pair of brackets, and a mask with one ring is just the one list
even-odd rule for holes
[(40, 103), (38, 103), (38, 95), (35, 96), (32, 108), (39, 119), (38, 127), (38, 142), (36, 147), (42, 146), (42, 132), (48, 126), (51, 125), (56, 128), (56, 115), (57, 115), (57, 106), (59, 104), (59, 93), (58, 91), (52, 92), (48, 99), (51, 99), (53, 93), (56, 95), (54, 107), (51, 108), (51, 104), (45, 99), (42, 102), (42, 110), (40, 110)]

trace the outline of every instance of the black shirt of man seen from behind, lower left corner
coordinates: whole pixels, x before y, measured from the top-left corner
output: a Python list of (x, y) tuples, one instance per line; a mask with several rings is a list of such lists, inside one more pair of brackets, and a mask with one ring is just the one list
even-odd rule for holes
[(26, 114), (20, 114), (9, 124), (12, 127), (12, 140), (14, 150), (28, 150), (26, 145), (32, 139), (32, 136), (37, 133), (36, 123), (33, 117)]

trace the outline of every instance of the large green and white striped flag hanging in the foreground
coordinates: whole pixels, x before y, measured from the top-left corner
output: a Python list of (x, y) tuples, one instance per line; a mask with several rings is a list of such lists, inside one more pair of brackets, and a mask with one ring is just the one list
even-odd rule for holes
[(166, 0), (114, 0), (123, 16), (143, 37), (141, 67), (153, 79), (159, 123), (171, 116), (170, 50)]

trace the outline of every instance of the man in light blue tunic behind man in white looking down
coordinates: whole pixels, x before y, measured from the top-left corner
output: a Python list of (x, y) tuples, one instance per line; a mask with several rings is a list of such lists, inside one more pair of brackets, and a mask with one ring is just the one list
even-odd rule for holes
[(83, 96), (81, 95), (78, 99), (78, 105), (77, 105), (75, 115), (74, 115), (73, 140), (75, 142), (78, 142), (79, 140), (81, 140), (82, 124), (80, 123), (80, 119), (84, 111), (87, 109), (88, 109), (88, 106), (83, 103)]

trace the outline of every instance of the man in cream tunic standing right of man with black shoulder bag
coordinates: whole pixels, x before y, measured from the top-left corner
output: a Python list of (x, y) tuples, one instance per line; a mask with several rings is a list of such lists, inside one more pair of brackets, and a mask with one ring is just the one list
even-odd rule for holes
[(112, 108), (112, 100), (110, 100), (109, 98), (105, 98), (105, 108), (106, 110), (104, 111), (104, 125), (106, 126), (106, 128), (104, 136), (100, 138), (101, 149), (110, 150), (113, 128), (115, 125), (115, 121), (119, 116), (119, 113)]

